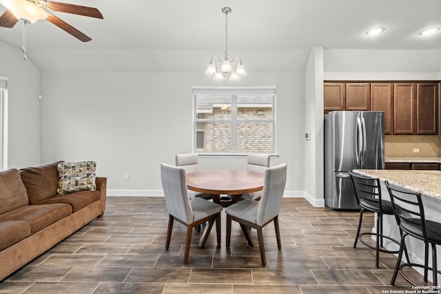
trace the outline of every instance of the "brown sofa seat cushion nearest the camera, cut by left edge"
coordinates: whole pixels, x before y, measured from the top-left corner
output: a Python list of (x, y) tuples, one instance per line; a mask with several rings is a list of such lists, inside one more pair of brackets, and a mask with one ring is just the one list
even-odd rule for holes
[(28, 222), (23, 220), (0, 222), (0, 251), (20, 242), (28, 235), (30, 235)]

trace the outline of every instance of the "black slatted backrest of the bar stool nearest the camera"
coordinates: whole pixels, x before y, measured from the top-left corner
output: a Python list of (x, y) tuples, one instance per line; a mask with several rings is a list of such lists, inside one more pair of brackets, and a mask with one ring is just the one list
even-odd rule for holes
[[(413, 227), (419, 228), (422, 236), (418, 236), (424, 238), (427, 242), (426, 218), (424, 216), (421, 193), (391, 186), (387, 181), (384, 181), (384, 184), (391, 196), (393, 213), (395, 214), (397, 223), (401, 224), (404, 221)], [(407, 231), (407, 233), (414, 235), (412, 232), (413, 231)]]

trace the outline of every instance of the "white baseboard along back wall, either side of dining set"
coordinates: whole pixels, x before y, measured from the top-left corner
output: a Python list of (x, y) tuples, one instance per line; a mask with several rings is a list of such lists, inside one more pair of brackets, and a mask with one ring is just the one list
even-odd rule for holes
[[(150, 196), (164, 197), (163, 190), (107, 189), (107, 196)], [(315, 199), (305, 191), (285, 191), (285, 198), (305, 198), (314, 207), (325, 207), (325, 199)]]

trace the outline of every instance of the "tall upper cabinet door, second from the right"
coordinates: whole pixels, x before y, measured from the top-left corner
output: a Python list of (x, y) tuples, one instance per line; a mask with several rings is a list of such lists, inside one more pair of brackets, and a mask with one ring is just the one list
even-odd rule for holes
[(416, 134), (416, 84), (393, 85), (393, 134)]

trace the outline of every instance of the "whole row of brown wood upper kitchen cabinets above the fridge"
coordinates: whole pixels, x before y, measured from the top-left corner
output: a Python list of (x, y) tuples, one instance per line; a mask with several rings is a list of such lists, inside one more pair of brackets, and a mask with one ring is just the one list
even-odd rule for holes
[(323, 83), (324, 112), (336, 110), (384, 112), (386, 135), (438, 135), (440, 83)]

